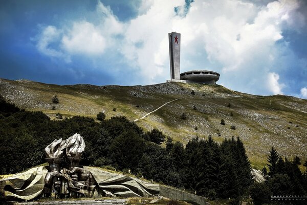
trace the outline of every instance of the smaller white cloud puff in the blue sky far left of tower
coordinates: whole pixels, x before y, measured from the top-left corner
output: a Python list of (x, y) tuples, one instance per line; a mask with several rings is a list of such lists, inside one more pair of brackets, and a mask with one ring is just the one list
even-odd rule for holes
[[(121, 34), (124, 29), (111, 9), (101, 2), (98, 2), (96, 14), (99, 17), (97, 25), (81, 20), (73, 22), (72, 27), (66, 29), (47, 26), (38, 37), (38, 50), (45, 55), (60, 58), (75, 54), (92, 57), (102, 55), (107, 48), (114, 46), (115, 35)], [(52, 42), (57, 42), (59, 46), (56, 49), (49, 48)]]

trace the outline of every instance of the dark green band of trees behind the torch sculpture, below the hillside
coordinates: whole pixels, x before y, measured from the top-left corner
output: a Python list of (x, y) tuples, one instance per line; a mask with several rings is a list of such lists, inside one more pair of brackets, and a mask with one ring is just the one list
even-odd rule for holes
[[(123, 116), (100, 122), (81, 116), (50, 120), (42, 112), (20, 110), (1, 96), (0, 174), (17, 173), (45, 163), (43, 149), (55, 138), (66, 139), (76, 132), (83, 136), (86, 145), (81, 165), (131, 170), (138, 177), (144, 176), (210, 199), (231, 198), (231, 203), (239, 204), (248, 195), (257, 201), (260, 196), (257, 193), (261, 191), (269, 194), (261, 200), (268, 199), (274, 191), (270, 186), (276, 187), (280, 177), (287, 174), (293, 183), (293, 193), (307, 190), (303, 182), (306, 174), (288, 159), (282, 163), (280, 158), (276, 161), (272, 156), (273, 161), (269, 158), (271, 177), (264, 183), (254, 183), (251, 165), (239, 137), (225, 139), (221, 144), (211, 136), (207, 139), (195, 137), (184, 147), (157, 129), (144, 132)], [(290, 173), (296, 174), (290, 176)], [(300, 187), (296, 188), (297, 185)]]

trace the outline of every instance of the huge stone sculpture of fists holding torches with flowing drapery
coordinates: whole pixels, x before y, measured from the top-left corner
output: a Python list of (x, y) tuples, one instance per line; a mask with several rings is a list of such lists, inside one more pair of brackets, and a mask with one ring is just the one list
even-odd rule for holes
[(1, 179), (0, 192), (7, 200), (159, 194), (159, 185), (100, 168), (79, 166), (84, 149), (83, 137), (78, 133), (65, 140), (54, 140), (45, 148), (49, 166)]

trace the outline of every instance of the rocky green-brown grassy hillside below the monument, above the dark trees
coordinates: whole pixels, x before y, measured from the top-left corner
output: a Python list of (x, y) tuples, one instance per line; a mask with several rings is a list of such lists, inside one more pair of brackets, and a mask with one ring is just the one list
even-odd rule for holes
[[(195, 95), (191, 94), (192, 90)], [(219, 85), (58, 86), (7, 79), (0, 79), (0, 95), (20, 108), (39, 110), (51, 118), (58, 112), (65, 117), (96, 117), (103, 111), (107, 118), (125, 115), (130, 120), (179, 98), (136, 123), (144, 130), (157, 128), (184, 144), (196, 135), (208, 137), (211, 134), (217, 141), (239, 136), (253, 167), (258, 169), (265, 165), (271, 146), (282, 156), (307, 159), (307, 100), (295, 97), (256, 96)], [(59, 104), (51, 102), (54, 95), (58, 96)], [(56, 110), (52, 110), (52, 106)], [(186, 114), (186, 119), (181, 119), (182, 113)], [(221, 119), (226, 125), (221, 125)]]

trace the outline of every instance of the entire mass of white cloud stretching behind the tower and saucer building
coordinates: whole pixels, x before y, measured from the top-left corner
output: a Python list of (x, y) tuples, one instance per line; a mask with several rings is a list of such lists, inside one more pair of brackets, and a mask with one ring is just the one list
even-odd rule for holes
[[(182, 38), (182, 71), (210, 69), (221, 72), (218, 83), (230, 89), (282, 93), (285, 85), (278, 81), (280, 68), (274, 64), (289, 48), (276, 42), (283, 39), (284, 29), (298, 31), (304, 24), (304, 17), (296, 12), (298, 1), (279, 0), (264, 6), (239, 0), (195, 1), (185, 16), (176, 15), (174, 8), (183, 10), (184, 5), (184, 0), (143, 0), (139, 15), (123, 23), (111, 8), (98, 2), (98, 22), (76, 21), (66, 29), (49, 26), (37, 47), (54, 57), (85, 54), (95, 58), (111, 50), (124, 56), (128, 69), (139, 71), (141, 83), (161, 83), (169, 77), (168, 32), (177, 31)], [(55, 39), (59, 47), (50, 48)], [(266, 80), (269, 87), (259, 83)]]

